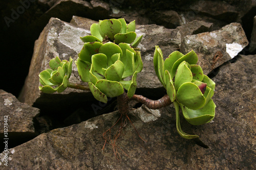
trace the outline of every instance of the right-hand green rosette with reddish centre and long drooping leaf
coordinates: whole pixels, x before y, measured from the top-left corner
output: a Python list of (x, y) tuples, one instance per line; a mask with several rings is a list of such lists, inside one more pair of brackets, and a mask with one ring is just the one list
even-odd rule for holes
[(214, 95), (215, 83), (203, 74), (197, 65), (198, 57), (192, 50), (186, 55), (175, 51), (163, 60), (159, 46), (154, 53), (154, 67), (158, 79), (165, 87), (170, 101), (174, 102), (177, 118), (177, 129), (184, 138), (195, 138), (181, 130), (179, 107), (183, 116), (192, 125), (210, 122), (215, 116), (216, 105), (211, 97)]

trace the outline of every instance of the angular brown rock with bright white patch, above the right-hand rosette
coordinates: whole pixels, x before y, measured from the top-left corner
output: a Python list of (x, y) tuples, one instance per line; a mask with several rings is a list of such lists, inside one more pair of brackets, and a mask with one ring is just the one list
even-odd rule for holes
[(240, 23), (230, 23), (218, 31), (205, 32), (184, 37), (181, 53), (194, 50), (198, 55), (198, 65), (204, 74), (237, 56), (248, 44)]

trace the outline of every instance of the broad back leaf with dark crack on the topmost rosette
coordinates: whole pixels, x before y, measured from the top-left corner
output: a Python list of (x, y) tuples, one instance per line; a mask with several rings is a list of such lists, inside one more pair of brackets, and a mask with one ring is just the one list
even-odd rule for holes
[(120, 32), (121, 27), (122, 23), (118, 19), (105, 19), (100, 23), (101, 31), (112, 40)]

